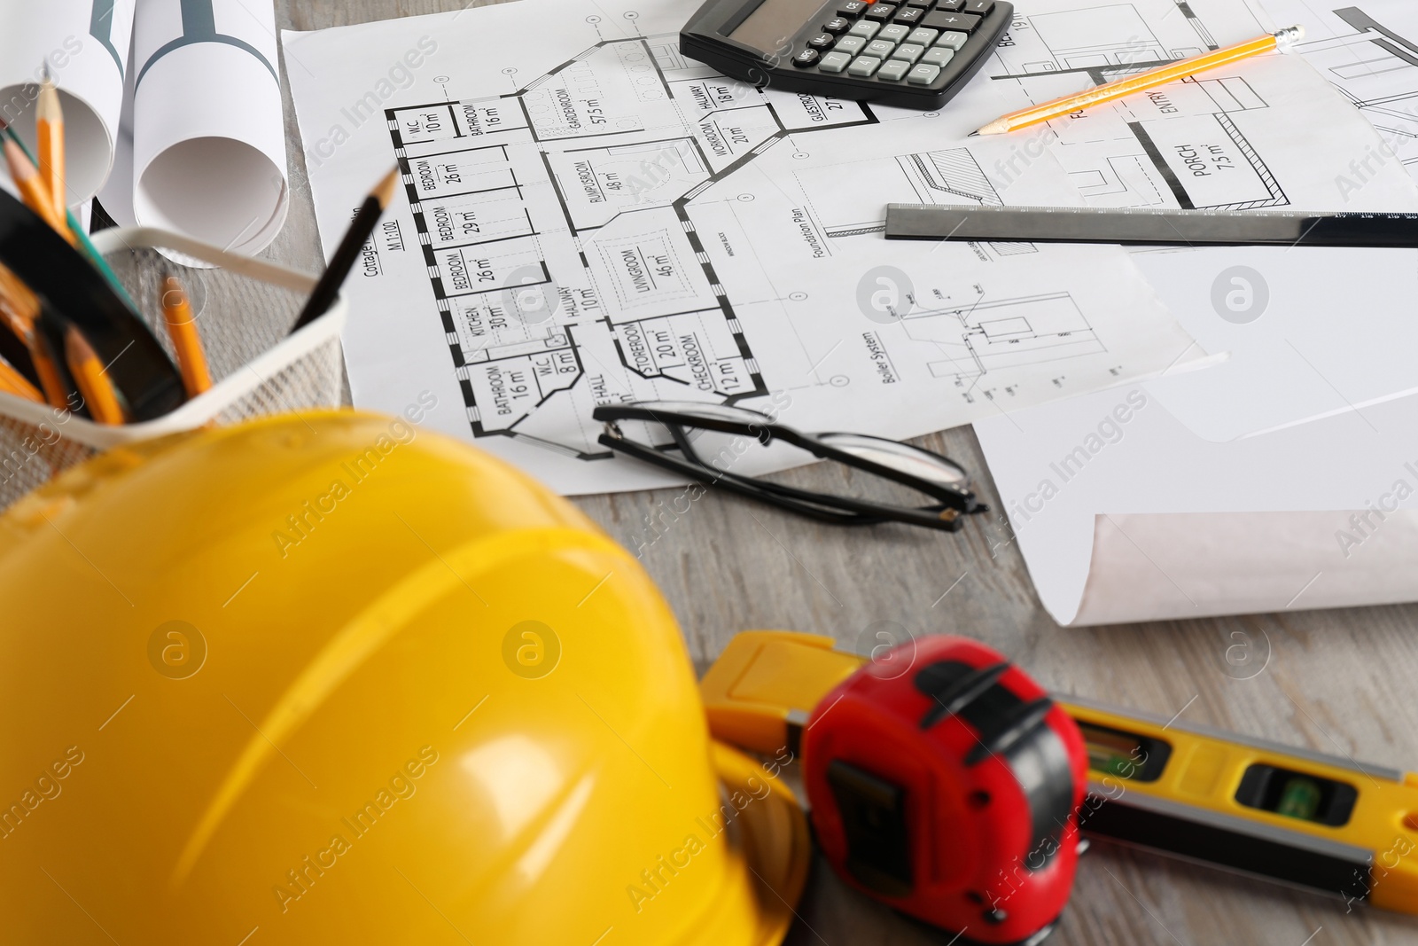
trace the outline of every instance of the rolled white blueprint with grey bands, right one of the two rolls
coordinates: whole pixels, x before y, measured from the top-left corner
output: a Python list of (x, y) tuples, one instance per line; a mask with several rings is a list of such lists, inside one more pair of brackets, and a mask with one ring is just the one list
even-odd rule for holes
[(234, 252), (269, 245), (291, 193), (272, 0), (138, 0), (133, 216)]

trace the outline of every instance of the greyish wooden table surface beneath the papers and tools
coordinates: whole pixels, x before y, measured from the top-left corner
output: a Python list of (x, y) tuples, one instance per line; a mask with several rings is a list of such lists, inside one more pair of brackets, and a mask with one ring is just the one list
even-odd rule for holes
[[(479, 3), (277, 0), (277, 21), (316, 30), (462, 6)], [(264, 255), (315, 271), (322, 257), (289, 91), (285, 108), (295, 201)], [(961, 461), (997, 505), (970, 428), (919, 443)], [(821, 488), (837, 477), (810, 467), (781, 479)], [(1066, 630), (1044, 611), (1007, 525), (993, 515), (956, 535), (839, 529), (713, 494), (676, 515), (676, 492), (588, 496), (577, 505), (630, 547), (649, 535), (647, 518), (661, 522), (641, 560), (700, 671), (740, 630), (814, 631), (851, 645), (875, 623), (891, 621), (915, 634), (983, 640), (1061, 694), (1418, 767), (1418, 606)], [(1241, 677), (1254, 671), (1227, 661), (1227, 648), (1238, 644), (1251, 648), (1248, 667), (1265, 665), (1251, 679)], [(794, 945), (949, 942), (845, 888), (821, 858), (798, 913), (788, 936)], [(1418, 943), (1418, 922), (1360, 908), (1347, 913), (1339, 899), (1095, 844), (1049, 943)]]

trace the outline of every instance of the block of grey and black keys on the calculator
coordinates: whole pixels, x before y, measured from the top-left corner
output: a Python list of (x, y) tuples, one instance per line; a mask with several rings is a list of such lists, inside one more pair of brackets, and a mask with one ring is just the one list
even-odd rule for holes
[[(1007, 7), (1008, 9), (1008, 7)], [(793, 57), (801, 69), (930, 85), (995, 11), (995, 0), (837, 0)]]

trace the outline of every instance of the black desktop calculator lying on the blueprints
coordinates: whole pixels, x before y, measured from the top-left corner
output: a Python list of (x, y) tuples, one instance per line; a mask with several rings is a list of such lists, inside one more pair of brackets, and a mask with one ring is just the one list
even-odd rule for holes
[(934, 109), (1012, 17), (1000, 0), (708, 0), (679, 51), (760, 88)]

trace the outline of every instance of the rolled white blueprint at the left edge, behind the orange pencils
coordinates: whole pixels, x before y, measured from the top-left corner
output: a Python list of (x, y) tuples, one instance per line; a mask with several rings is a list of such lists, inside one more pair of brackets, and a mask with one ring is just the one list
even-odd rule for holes
[(64, 108), (64, 203), (104, 186), (123, 105), (133, 0), (0, 0), (0, 118), (34, 145), (34, 108), (44, 68)]

